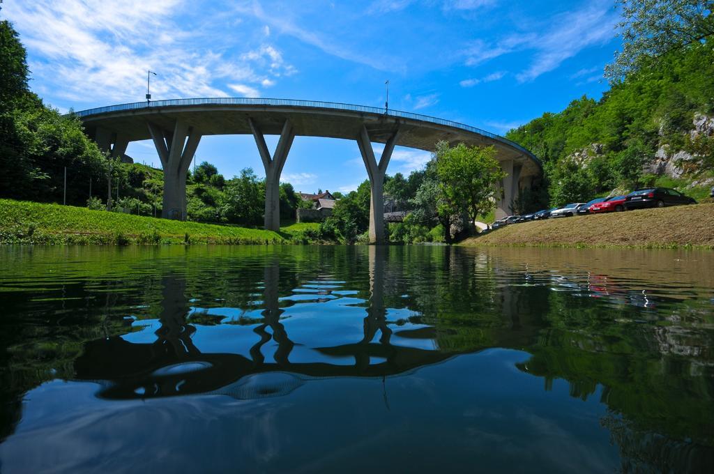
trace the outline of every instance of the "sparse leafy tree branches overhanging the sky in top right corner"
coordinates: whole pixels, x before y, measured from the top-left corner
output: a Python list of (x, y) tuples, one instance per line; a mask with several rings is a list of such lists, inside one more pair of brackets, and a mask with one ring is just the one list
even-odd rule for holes
[(617, 27), (622, 51), (605, 66), (605, 76), (617, 81), (650, 66), (670, 51), (714, 35), (711, 0), (617, 0), (622, 20)]

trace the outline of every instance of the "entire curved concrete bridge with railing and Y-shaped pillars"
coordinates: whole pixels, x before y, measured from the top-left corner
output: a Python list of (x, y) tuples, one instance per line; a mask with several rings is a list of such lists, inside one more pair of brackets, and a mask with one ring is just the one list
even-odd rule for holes
[[(175, 99), (100, 107), (76, 115), (111, 156), (124, 154), (131, 141), (154, 141), (164, 168), (164, 218), (186, 219), (186, 172), (204, 135), (253, 135), (266, 173), (265, 228), (272, 231), (280, 228), (278, 186), (293, 139), (321, 136), (356, 141), (371, 183), (373, 243), (383, 239), (383, 181), (395, 146), (433, 151), (441, 140), (493, 145), (508, 173), (497, 217), (510, 213), (519, 191), (542, 173), (538, 158), (506, 138), (462, 123), (368, 106), (288, 99)], [(280, 136), (272, 155), (265, 134)], [(375, 156), (372, 143), (384, 143), (381, 156)]]

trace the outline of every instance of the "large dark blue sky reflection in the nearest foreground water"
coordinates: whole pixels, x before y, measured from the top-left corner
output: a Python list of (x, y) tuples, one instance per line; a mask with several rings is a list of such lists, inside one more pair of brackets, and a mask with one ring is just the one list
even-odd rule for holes
[[(605, 414), (601, 394), (583, 402), (570, 397), (564, 381), (546, 392), (542, 380), (513, 370), (527, 359), (527, 353), (490, 350), (384, 383), (302, 380), (287, 397), (253, 400), (193, 395), (110, 402), (94, 397), (92, 383), (49, 382), (28, 395), (32, 403), (16, 435), (0, 445), (0, 459), (8, 472), (236, 466), (363, 472), (375, 460), (379, 470), (404, 472), (456, 470), (474, 459), (482, 470), (521, 470), (524, 463), (614, 470), (617, 450), (598, 421)], [(281, 381), (261, 377), (251, 383)], [(36, 440), (43, 440), (42, 455)]]

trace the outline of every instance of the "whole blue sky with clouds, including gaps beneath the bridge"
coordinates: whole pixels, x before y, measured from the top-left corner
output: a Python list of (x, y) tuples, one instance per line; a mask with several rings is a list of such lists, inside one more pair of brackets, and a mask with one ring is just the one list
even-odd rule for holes
[[(67, 111), (144, 100), (278, 97), (413, 111), (503, 134), (607, 89), (619, 46), (613, 0), (5, 0), (31, 89)], [(275, 146), (276, 137), (268, 137)], [(376, 146), (378, 150), (379, 147)], [(149, 141), (136, 161), (159, 166)], [(206, 136), (196, 152), (226, 177), (252, 167), (251, 136)], [(428, 153), (397, 148), (388, 173)], [(300, 191), (349, 191), (367, 174), (353, 141), (297, 137), (283, 171)]]

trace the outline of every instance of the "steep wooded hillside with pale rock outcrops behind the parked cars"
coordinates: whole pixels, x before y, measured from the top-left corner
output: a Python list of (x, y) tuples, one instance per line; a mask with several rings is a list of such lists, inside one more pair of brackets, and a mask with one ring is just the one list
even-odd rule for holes
[(714, 186), (714, 49), (675, 49), (611, 84), (599, 100), (581, 97), (506, 137), (531, 148), (545, 179), (516, 213), (589, 201), (644, 186), (700, 199)]

